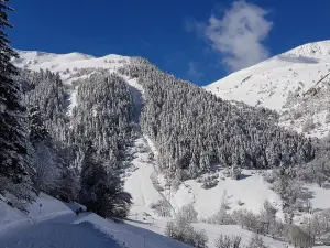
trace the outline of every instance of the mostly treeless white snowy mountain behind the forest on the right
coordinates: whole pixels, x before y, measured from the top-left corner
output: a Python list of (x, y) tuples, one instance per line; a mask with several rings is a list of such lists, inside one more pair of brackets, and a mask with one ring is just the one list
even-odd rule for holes
[(280, 114), (280, 125), (324, 137), (330, 126), (330, 41), (308, 43), (205, 88), (228, 100)]

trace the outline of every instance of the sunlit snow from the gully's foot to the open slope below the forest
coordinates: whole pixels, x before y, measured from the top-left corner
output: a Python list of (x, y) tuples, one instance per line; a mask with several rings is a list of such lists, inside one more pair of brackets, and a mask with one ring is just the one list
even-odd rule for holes
[[(155, 148), (150, 148), (150, 143), (151, 141), (144, 138), (135, 141), (135, 147), (140, 148), (136, 150), (142, 152), (135, 153), (132, 163), (136, 170), (129, 172), (129, 176), (125, 179), (125, 191), (133, 196), (133, 213), (139, 213), (141, 209), (151, 212), (150, 206), (152, 204), (165, 198), (175, 211), (193, 203), (199, 218), (204, 219), (212, 216), (219, 209), (224, 194), (231, 211), (246, 208), (258, 213), (266, 200), (280, 209), (282, 201), (279, 196), (270, 190), (263, 176), (255, 171), (244, 170), (244, 179), (239, 181), (224, 177), (220, 171), (216, 173), (219, 174), (219, 183), (216, 187), (205, 190), (201, 187), (201, 183), (196, 180), (188, 180), (177, 191), (174, 191), (165, 185), (164, 179), (161, 174), (157, 174), (155, 165), (148, 162), (148, 152), (155, 150)], [(160, 185), (164, 191), (160, 192), (154, 187), (151, 180), (152, 175), (160, 179)]]

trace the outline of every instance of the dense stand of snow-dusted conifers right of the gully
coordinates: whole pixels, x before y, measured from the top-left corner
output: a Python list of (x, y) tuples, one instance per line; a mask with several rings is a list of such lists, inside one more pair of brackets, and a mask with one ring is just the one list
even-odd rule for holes
[(213, 164), (270, 169), (314, 158), (310, 140), (279, 128), (274, 111), (232, 105), (143, 58), (120, 72), (138, 77), (144, 88), (141, 128), (157, 145), (161, 170), (172, 179), (179, 170), (197, 177)]

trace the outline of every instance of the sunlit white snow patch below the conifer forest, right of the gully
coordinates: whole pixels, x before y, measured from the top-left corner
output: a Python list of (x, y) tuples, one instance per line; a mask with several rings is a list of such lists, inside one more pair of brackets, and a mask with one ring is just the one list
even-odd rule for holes
[(280, 209), (282, 201), (279, 196), (270, 190), (268, 184), (261, 174), (252, 173), (252, 171), (245, 170), (243, 174), (246, 177), (235, 181), (229, 177), (226, 179), (221, 172), (218, 172), (220, 180), (216, 187), (205, 190), (201, 187), (201, 183), (189, 180), (182, 184), (177, 192), (168, 193), (167, 191), (166, 195), (170, 195), (170, 203), (176, 209), (188, 203), (194, 203), (195, 209), (199, 213), (199, 218), (208, 218), (216, 214), (223, 197), (226, 197), (231, 211), (245, 208), (253, 213), (260, 213), (266, 200)]

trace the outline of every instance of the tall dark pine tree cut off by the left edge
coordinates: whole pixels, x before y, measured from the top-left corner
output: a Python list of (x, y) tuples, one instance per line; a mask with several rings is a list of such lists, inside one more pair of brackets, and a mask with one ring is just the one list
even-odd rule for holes
[(20, 87), (13, 80), (18, 69), (11, 58), (18, 54), (4, 32), (12, 28), (7, 12), (13, 9), (7, 2), (0, 0), (0, 176), (21, 183), (29, 180), (26, 118)]

